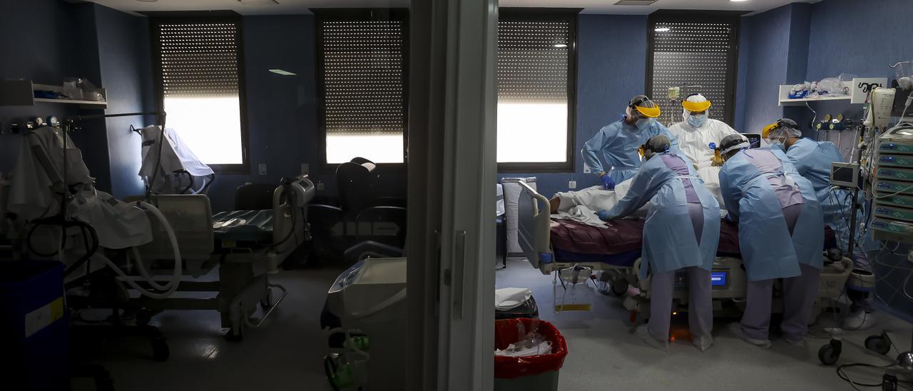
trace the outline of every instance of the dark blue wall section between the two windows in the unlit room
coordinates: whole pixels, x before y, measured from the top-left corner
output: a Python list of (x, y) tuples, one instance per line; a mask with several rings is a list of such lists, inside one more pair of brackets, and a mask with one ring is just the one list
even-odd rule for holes
[[(232, 208), (238, 185), (278, 183), (282, 176), (300, 174), (302, 163), (311, 171), (318, 168), (312, 158), (317, 153), (314, 33), (313, 16), (244, 18), (250, 173), (215, 175), (209, 191), (214, 211)], [(257, 174), (260, 163), (267, 164), (267, 175)]]

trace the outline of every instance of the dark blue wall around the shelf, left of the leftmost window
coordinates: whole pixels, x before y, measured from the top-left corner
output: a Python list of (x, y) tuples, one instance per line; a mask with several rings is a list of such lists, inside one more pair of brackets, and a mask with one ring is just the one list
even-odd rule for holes
[[(31, 15), (49, 17), (53, 27), (36, 27), (27, 17)], [(59, 0), (6, 2), (0, 13), (0, 52), (16, 60), (0, 61), (0, 78), (60, 85), (64, 77), (83, 77), (108, 89), (109, 105), (108, 111), (80, 111), (62, 103), (0, 107), (0, 126), (8, 131), (14, 118), (143, 110), (152, 101), (148, 42), (144, 17)], [(72, 133), (96, 186), (119, 197), (142, 194), (139, 139), (128, 132), (130, 123), (141, 125), (142, 119), (90, 120)], [(12, 170), (21, 137), (0, 135), (0, 171)]]

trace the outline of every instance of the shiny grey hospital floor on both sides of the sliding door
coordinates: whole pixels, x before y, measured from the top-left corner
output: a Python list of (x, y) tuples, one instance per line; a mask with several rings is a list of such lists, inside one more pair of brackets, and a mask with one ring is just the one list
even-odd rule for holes
[[(342, 271), (322, 267), (283, 271), (274, 281), (289, 289), (274, 319), (249, 331), (242, 342), (222, 337), (215, 312), (163, 312), (152, 319), (168, 338), (171, 357), (152, 360), (149, 343), (141, 338), (110, 338), (91, 363), (104, 365), (117, 390), (328, 390), (321, 359), (326, 337), (319, 316), (332, 281)], [(632, 333), (621, 299), (597, 296), (593, 312), (551, 311), (551, 277), (526, 261), (509, 261), (496, 271), (498, 288), (526, 287), (533, 291), (540, 318), (554, 322), (567, 338), (570, 354), (561, 369), (561, 390), (596, 389), (851, 389), (834, 367), (819, 365), (816, 352), (827, 340), (809, 338), (805, 348), (774, 340), (770, 350), (750, 346), (715, 325), (713, 348), (699, 353), (690, 343), (672, 343), (668, 354), (645, 346)], [(909, 345), (910, 325), (882, 314), (880, 324), (867, 332), (844, 337), (841, 363), (885, 365), (880, 356), (861, 348), (870, 333), (897, 331), (901, 346)], [(894, 354), (894, 353), (892, 353)], [(868, 374), (868, 375), (855, 375)], [(879, 381), (880, 372), (854, 371), (857, 381)], [(858, 379), (856, 379), (858, 377)], [(86, 379), (74, 390), (92, 390)]]

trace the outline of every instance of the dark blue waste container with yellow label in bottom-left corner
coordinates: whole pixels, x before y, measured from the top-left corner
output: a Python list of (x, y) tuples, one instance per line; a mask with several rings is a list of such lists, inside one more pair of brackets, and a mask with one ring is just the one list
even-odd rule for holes
[(63, 293), (62, 263), (0, 259), (0, 388), (68, 388)]

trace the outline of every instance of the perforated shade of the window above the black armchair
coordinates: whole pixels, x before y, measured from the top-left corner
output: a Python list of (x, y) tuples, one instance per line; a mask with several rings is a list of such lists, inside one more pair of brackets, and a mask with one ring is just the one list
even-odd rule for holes
[(405, 20), (321, 16), (318, 39), (327, 135), (404, 134)]

